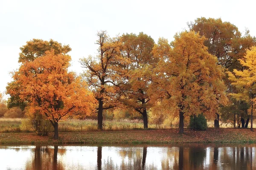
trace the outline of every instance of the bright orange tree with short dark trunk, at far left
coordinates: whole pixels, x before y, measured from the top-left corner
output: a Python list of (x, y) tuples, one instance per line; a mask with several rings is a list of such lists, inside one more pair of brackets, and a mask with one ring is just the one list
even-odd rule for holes
[(30, 113), (47, 116), (54, 127), (54, 139), (58, 139), (60, 119), (90, 114), (94, 107), (94, 97), (87, 90), (86, 83), (67, 71), (70, 61), (67, 54), (45, 51), (41, 57), (24, 62), (13, 74), (14, 82), (22, 87), (21, 90), (8, 91), (27, 101)]

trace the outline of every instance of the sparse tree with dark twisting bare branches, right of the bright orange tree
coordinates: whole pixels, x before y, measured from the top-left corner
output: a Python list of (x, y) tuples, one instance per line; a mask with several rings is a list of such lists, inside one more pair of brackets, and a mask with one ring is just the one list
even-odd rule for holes
[[(128, 61), (120, 55), (121, 42), (108, 37), (106, 31), (97, 34), (98, 55), (80, 59), (86, 68), (84, 77), (98, 100), (98, 129), (102, 130), (103, 110), (114, 108), (120, 97), (119, 85), (122, 83), (122, 66)], [(121, 67), (120, 67), (121, 66)]]

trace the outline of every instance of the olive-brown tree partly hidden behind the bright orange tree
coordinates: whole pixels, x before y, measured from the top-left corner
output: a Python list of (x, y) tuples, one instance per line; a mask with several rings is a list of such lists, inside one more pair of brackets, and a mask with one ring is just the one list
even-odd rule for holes
[[(67, 54), (69, 51), (71, 51), (71, 48), (69, 45), (62, 45), (61, 43), (49, 40), (44, 41), (40, 39), (33, 39), (26, 42), (26, 45), (23, 45), (20, 47), (20, 54), (19, 54), (19, 62), (21, 64), (25, 64), (26, 62), (34, 61), (34, 59), (38, 57), (42, 57), (46, 51), (54, 50), (54, 53), (57, 54)], [(8, 83), (7, 87), (8, 91), (21, 91), (22, 88), (20, 85), (18, 85), (16, 82), (10, 82)], [(8, 108), (13, 107), (19, 107), (22, 110), (26, 108), (26, 101), (23, 101), (19, 98), (19, 94), (10, 94), (10, 97), (7, 102)]]

